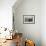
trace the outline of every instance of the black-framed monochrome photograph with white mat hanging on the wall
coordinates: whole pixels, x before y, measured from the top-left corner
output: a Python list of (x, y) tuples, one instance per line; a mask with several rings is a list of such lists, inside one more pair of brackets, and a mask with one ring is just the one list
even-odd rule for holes
[(35, 15), (23, 15), (23, 24), (35, 24)]

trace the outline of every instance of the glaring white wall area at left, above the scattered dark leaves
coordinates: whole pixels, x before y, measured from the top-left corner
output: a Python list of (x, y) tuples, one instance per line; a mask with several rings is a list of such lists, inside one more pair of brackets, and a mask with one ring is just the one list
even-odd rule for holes
[(0, 27), (12, 28), (12, 6), (16, 0), (0, 0)]

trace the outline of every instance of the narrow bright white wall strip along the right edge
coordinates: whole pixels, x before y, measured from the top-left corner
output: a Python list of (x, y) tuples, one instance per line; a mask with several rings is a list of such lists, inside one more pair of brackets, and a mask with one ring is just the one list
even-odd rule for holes
[(46, 0), (42, 0), (41, 5), (41, 39), (42, 46), (46, 46)]

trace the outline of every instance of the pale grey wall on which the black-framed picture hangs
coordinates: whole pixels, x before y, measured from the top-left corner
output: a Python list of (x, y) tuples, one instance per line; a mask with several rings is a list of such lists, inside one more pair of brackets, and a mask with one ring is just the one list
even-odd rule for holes
[[(34, 40), (36, 46), (41, 46), (41, 1), (23, 0), (13, 8), (15, 27), (18, 32), (22, 32), (25, 38)], [(23, 24), (23, 15), (35, 15), (35, 24)]]

